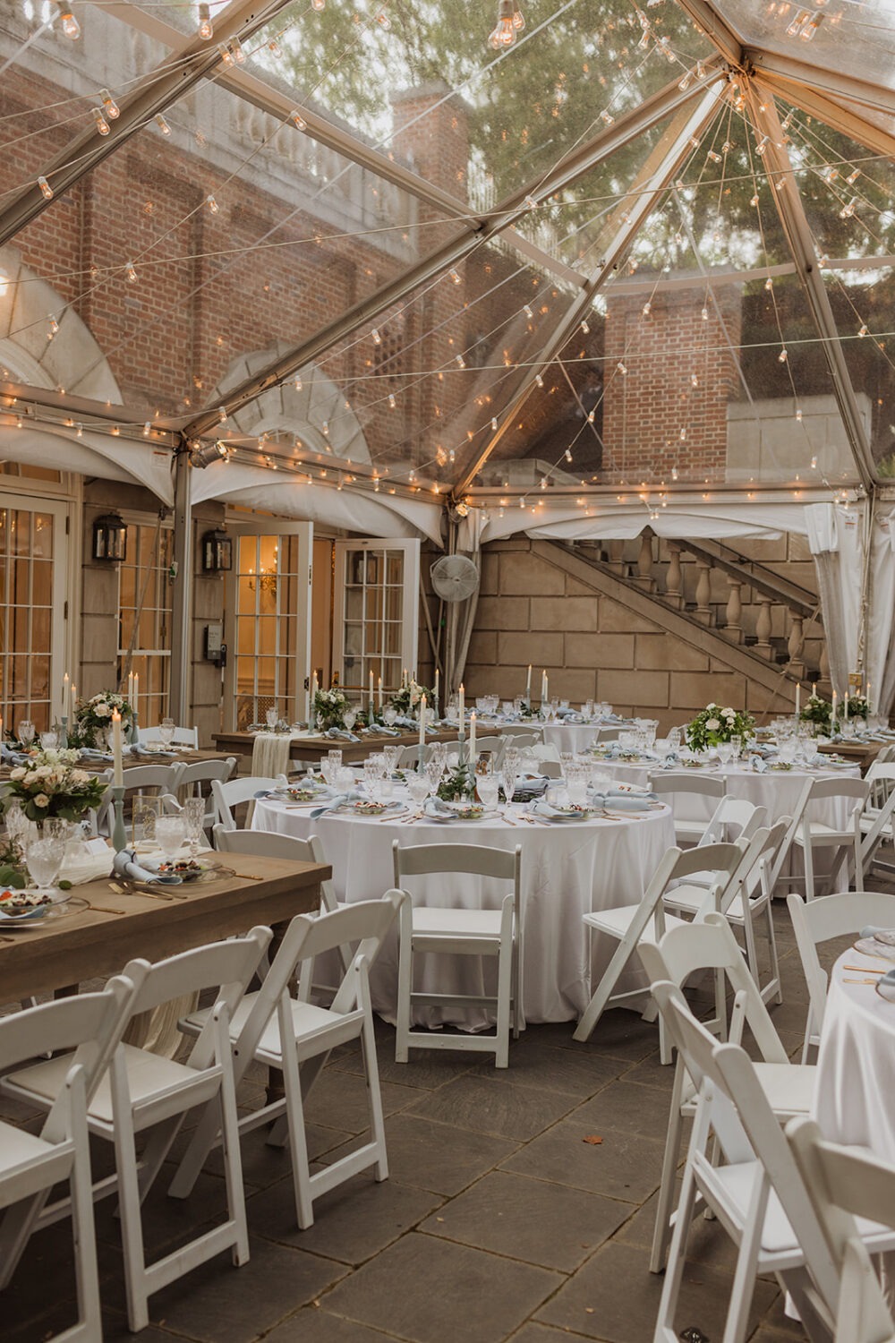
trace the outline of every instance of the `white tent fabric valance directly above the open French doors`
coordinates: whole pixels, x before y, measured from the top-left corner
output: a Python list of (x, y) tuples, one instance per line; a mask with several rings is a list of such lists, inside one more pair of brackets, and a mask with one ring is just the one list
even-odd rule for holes
[(272, 473), (262, 466), (216, 462), (193, 471), (193, 504), (220, 500), (243, 508), (258, 508), (279, 517), (305, 518), (344, 526), (364, 536), (428, 537), (441, 545), (441, 506), (424, 500), (378, 494), (322, 481)]

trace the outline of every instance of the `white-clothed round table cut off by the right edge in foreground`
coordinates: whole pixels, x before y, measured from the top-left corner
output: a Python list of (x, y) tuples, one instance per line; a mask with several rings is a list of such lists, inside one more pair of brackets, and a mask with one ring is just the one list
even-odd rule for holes
[[(867, 966), (867, 974), (845, 966)], [(874, 987), (874, 971), (891, 966), (853, 948), (833, 966), (817, 1056), (814, 1119), (832, 1142), (870, 1147), (895, 1163), (895, 1003)], [(874, 983), (853, 982), (864, 978)]]

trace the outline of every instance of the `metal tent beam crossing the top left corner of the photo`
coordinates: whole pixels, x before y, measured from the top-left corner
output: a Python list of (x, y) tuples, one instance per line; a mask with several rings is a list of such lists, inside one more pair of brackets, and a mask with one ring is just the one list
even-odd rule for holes
[(38, 185), (38, 172), (31, 185), (23, 187), (0, 214), (0, 246), (8, 243), (23, 228), (47, 210), (82, 177), (93, 172), (110, 154), (127, 144), (131, 136), (141, 130), (152, 118), (165, 111), (172, 103), (185, 97), (201, 79), (207, 79), (220, 64), (217, 42), (239, 36), (246, 40), (274, 15), (284, 9), (288, 0), (233, 0), (228, 8), (215, 15), (215, 42), (203, 42), (191, 35), (172, 51), (165, 60), (144, 75), (142, 79), (118, 101), (119, 115), (111, 122), (109, 134), (99, 136), (91, 125), (75, 136), (64, 149), (50, 158), (39, 169), (52, 188), (52, 199), (47, 200)]

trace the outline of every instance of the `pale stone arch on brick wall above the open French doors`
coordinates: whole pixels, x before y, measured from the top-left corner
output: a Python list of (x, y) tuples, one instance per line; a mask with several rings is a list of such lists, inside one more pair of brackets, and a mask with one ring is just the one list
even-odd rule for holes
[[(228, 391), (286, 355), (288, 348), (278, 341), (268, 349), (252, 351), (251, 355), (235, 359), (209, 395), (207, 404), (220, 406), (227, 399)], [(301, 387), (297, 387), (297, 383), (301, 383)], [(361, 422), (346, 404), (345, 392), (315, 364), (305, 364), (280, 387), (262, 392), (231, 415), (228, 424), (240, 436), (288, 435), (299, 439), (311, 453), (333, 453), (334, 457), (352, 462), (370, 461)]]

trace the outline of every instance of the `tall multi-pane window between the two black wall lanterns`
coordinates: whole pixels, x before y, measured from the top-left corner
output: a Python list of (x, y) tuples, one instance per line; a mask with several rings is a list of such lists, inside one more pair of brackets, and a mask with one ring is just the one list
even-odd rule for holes
[[(140, 676), (140, 721), (154, 727), (168, 713), (170, 692), (170, 622), (173, 532), (157, 522), (127, 522), (126, 559), (118, 567), (118, 674)], [(140, 618), (137, 619), (137, 612)]]

